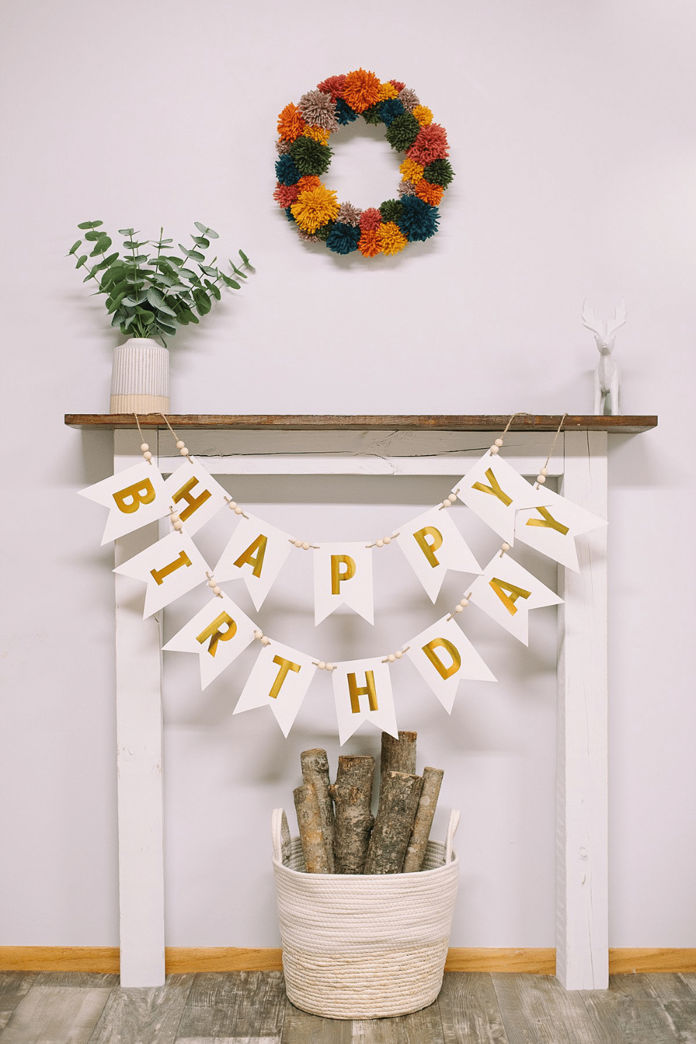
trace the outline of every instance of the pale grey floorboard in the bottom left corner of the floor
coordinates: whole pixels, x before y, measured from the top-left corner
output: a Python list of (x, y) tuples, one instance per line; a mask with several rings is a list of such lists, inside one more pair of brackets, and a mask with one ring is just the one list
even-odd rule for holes
[(0, 1042), (88, 1044), (110, 994), (104, 988), (32, 986), (0, 1033)]

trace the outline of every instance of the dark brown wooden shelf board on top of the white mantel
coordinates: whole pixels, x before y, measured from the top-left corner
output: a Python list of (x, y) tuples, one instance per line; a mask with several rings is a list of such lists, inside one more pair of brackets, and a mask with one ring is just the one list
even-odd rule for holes
[[(186, 428), (226, 428), (240, 430), (263, 430), (284, 428), (287, 431), (321, 431), (363, 429), (387, 431), (502, 431), (509, 421), (505, 416), (484, 414), (481, 417), (458, 417), (443, 414), (421, 416), (312, 416), (312, 414), (227, 414), (227, 413), (169, 413), (169, 423), (182, 430)], [(541, 416), (520, 413), (510, 425), (510, 431), (555, 431), (561, 414)], [(166, 428), (161, 413), (139, 414), (141, 428)], [(66, 413), (65, 423), (73, 428), (135, 428), (133, 413)], [(656, 417), (567, 417), (563, 431), (607, 431), (616, 434), (632, 435), (657, 426)]]

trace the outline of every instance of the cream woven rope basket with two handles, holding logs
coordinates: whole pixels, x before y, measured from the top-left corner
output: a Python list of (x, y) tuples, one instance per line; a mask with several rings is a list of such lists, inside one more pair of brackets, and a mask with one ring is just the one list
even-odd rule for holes
[(273, 872), (288, 998), (331, 1019), (378, 1019), (426, 1007), (442, 986), (459, 860), (452, 839), (429, 841), (416, 874), (307, 874), (298, 837), (282, 859), (273, 812)]

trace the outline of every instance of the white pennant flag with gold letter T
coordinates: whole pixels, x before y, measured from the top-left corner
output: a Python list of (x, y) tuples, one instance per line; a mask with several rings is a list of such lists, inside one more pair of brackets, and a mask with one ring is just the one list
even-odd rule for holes
[(287, 737), (315, 671), (306, 652), (271, 641), (262, 646), (234, 713), (270, 707)]

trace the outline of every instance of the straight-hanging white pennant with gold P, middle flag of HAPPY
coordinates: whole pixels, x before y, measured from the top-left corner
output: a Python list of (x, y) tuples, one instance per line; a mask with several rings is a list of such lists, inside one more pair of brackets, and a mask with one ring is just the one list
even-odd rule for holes
[(345, 603), (375, 622), (373, 552), (364, 544), (322, 544), (314, 551), (314, 623)]

